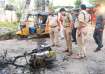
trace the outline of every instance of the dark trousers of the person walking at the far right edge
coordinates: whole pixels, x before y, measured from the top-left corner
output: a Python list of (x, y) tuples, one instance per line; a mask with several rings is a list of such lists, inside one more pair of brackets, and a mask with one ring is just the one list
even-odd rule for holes
[(93, 38), (94, 38), (96, 44), (98, 45), (97, 48), (99, 48), (99, 49), (102, 48), (102, 46), (103, 46), (103, 44), (102, 44), (103, 31), (95, 30)]

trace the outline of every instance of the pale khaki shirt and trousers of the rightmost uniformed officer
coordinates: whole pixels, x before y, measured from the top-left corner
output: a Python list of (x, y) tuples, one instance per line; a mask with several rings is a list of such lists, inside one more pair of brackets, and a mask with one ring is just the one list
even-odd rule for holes
[[(86, 11), (82, 10), (78, 16), (78, 27), (77, 27), (77, 43), (80, 48), (80, 55), (86, 55), (86, 40), (87, 40), (87, 25), (89, 15)], [(80, 28), (81, 27), (81, 28)]]

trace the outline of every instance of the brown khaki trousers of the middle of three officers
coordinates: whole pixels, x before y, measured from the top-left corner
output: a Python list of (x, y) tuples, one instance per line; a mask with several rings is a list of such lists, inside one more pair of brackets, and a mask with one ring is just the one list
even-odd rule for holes
[(67, 49), (69, 50), (69, 52), (72, 52), (71, 28), (70, 27), (64, 28), (64, 37), (65, 37)]

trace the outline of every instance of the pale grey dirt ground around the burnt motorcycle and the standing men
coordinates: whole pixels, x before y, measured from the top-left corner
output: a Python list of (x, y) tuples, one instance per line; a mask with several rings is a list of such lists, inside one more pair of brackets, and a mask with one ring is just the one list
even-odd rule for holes
[[(62, 51), (65, 49), (65, 41), (60, 41), (61, 47), (53, 47), (52, 49), (57, 52), (57, 58), (54, 62), (55, 67), (45, 69), (40, 74), (105, 74), (105, 47), (101, 51), (93, 52), (97, 47), (93, 40), (93, 28), (89, 27), (88, 41), (87, 41), (87, 57), (84, 59), (72, 59)], [(104, 31), (105, 33), (105, 31)], [(45, 43), (51, 44), (49, 38), (45, 38)], [(105, 45), (105, 34), (103, 39)], [(8, 57), (14, 57), (23, 54), (25, 51), (31, 51), (38, 47), (38, 40), (5, 40), (0, 41), (0, 54), (4, 50), (8, 51)], [(73, 43), (73, 52), (78, 52), (78, 46)], [(23, 63), (21, 60), (20, 63)], [(27, 70), (28, 71), (28, 70)], [(29, 72), (24, 74), (30, 74)], [(0, 69), (0, 74), (23, 74), (22, 69), (16, 69), (13, 66)], [(35, 73), (38, 74), (38, 73)]]

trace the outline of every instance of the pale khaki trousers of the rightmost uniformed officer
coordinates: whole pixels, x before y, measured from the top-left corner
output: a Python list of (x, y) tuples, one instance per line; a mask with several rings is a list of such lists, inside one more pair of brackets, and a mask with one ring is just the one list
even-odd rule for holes
[(87, 27), (81, 30), (77, 29), (77, 44), (80, 48), (79, 54), (81, 56), (86, 56), (86, 40), (87, 40)]

